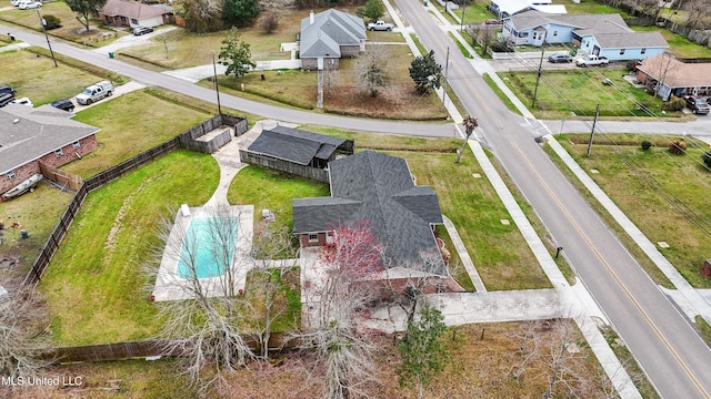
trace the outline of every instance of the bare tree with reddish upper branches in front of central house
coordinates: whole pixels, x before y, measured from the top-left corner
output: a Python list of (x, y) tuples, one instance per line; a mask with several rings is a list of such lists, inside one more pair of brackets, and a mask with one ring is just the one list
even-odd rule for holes
[(382, 270), (384, 248), (367, 222), (333, 228), (333, 242), (319, 249), (319, 270), (302, 287), (316, 311), (306, 331), (294, 338), (317, 354), (326, 369), (323, 396), (329, 399), (365, 395), (373, 381), (372, 338), (359, 327), (362, 310), (373, 299), (368, 277)]

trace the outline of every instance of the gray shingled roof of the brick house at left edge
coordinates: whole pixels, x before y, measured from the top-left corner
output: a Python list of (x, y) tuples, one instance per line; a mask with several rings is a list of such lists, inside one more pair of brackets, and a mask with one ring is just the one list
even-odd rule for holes
[(70, 116), (73, 114), (50, 105), (0, 109), (0, 174), (99, 132)]

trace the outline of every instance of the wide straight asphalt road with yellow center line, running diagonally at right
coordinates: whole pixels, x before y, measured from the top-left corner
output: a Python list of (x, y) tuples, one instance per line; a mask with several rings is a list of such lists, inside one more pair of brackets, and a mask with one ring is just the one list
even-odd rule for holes
[(450, 48), (451, 88), (662, 397), (711, 398), (711, 350), (534, 142), (545, 130), (505, 109), (420, 2), (397, 3), (442, 65)]

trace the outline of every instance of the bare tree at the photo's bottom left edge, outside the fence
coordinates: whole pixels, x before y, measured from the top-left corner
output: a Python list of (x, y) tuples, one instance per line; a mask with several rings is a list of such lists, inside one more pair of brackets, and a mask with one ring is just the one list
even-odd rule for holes
[(44, 304), (31, 286), (2, 270), (0, 276), (0, 375), (32, 376), (48, 365), (49, 327)]

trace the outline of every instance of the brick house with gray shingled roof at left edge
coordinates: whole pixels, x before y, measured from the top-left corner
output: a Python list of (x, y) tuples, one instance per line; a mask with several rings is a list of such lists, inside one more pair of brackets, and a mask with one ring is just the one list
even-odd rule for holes
[(40, 162), (58, 167), (99, 147), (99, 129), (71, 116), (50, 105), (0, 109), (0, 194), (40, 173)]

